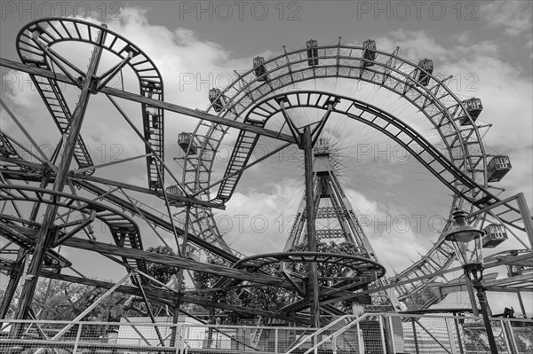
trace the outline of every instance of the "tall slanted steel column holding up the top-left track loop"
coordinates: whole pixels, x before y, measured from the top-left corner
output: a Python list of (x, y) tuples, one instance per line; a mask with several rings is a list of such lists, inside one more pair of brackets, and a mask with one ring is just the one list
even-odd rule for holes
[[(105, 32), (99, 32), (100, 43), (105, 40), (105, 35)], [(70, 169), (72, 158), (74, 157), (76, 142), (82, 128), (82, 122), (84, 122), (85, 111), (87, 110), (87, 104), (89, 103), (89, 98), (91, 96), (91, 85), (98, 70), (101, 53), (102, 48), (95, 46), (94, 50), (92, 51), (91, 62), (89, 63), (89, 67), (87, 69), (87, 75), (85, 76), (84, 83), (82, 85), (82, 90), (76, 105), (76, 109), (72, 114), (70, 130), (65, 133), (68, 135), (68, 137), (65, 142), (65, 149), (63, 151), (60, 166), (53, 184), (54, 192), (62, 192), (67, 181), (68, 171)], [(28, 308), (33, 300), (33, 295), (36, 291), (37, 282), (39, 280), (39, 274), (41, 273), (44, 254), (46, 253), (46, 249), (50, 247), (55, 233), (53, 223), (57, 210), (57, 204), (49, 204), (46, 207), (43, 223), (36, 234), (36, 246), (31, 263), (29, 264), (28, 277), (22, 287), (16, 319), (26, 319), (27, 317)], [(14, 327), (15, 326), (13, 326), (12, 334), (17, 335), (19, 331), (15, 330)]]

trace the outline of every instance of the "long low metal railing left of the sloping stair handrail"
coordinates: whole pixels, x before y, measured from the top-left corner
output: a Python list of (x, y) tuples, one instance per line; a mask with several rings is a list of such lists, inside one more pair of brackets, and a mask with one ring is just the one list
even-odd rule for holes
[[(302, 327), (0, 320), (0, 353), (284, 353)], [(146, 320), (146, 319), (144, 319)], [(67, 330), (65, 330), (67, 328)], [(60, 334), (60, 335), (58, 335)], [(48, 350), (48, 351), (46, 351)]]

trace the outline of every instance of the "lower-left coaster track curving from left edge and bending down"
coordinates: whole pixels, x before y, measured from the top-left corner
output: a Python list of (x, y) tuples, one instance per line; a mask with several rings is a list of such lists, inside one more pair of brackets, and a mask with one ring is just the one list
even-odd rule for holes
[[(31, 197), (28, 193), (34, 193), (35, 197)], [(46, 199), (45, 196), (51, 198)], [(86, 214), (91, 214), (91, 210), (97, 210), (96, 218), (107, 225), (117, 246), (130, 246), (131, 248), (137, 249), (143, 248), (137, 223), (122, 211), (111, 208), (98, 201), (91, 201), (84, 197), (29, 185), (0, 185), (0, 199), (3, 201), (28, 201), (56, 204), (60, 208), (85, 211)], [(75, 202), (82, 202), (85, 205), (78, 207), (74, 204)], [(126, 240), (129, 241), (129, 245)], [(146, 263), (144, 261), (133, 261), (123, 258), (123, 262), (139, 269), (139, 271), (147, 271)], [(128, 269), (126, 268), (126, 270)]]

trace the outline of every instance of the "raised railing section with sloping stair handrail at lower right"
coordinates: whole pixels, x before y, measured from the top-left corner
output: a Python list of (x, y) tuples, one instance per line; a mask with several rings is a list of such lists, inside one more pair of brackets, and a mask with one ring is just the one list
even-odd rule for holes
[[(348, 321), (346, 326), (329, 334), (317, 331), (287, 353), (490, 354), (485, 326), (478, 317), (367, 313), (357, 319), (345, 316), (337, 323), (341, 320)], [(498, 353), (533, 352), (533, 320), (492, 319), (490, 323)]]

